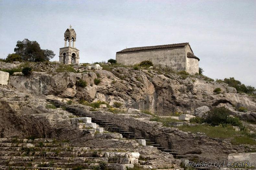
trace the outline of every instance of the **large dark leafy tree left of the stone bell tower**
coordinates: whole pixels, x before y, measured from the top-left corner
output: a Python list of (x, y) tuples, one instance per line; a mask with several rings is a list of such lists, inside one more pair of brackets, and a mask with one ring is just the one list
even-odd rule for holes
[(55, 56), (52, 50), (42, 50), (36, 41), (17, 41), (14, 52), (21, 56), (23, 61), (42, 62), (49, 61)]

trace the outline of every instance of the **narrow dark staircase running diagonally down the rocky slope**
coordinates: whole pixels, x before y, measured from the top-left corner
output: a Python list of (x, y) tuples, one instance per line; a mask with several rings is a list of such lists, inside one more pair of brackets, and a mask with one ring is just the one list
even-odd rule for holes
[[(119, 127), (118, 125), (115, 125), (109, 121), (102, 119), (102, 118), (97, 118), (97, 117), (95, 117), (95, 115), (89, 114), (88, 112), (85, 112), (84, 110), (82, 110), (78, 107), (73, 107), (73, 106), (67, 105), (58, 100), (47, 99), (47, 101), (51, 102), (56, 107), (65, 107), (67, 111), (69, 111), (70, 113), (72, 113), (73, 115), (76, 115), (78, 117), (90, 117), (91, 122), (97, 123), (98, 125), (100, 125), (101, 127), (104, 127), (106, 130), (108, 130), (110, 132), (120, 133), (123, 135), (123, 137), (130, 138), (130, 139), (136, 139), (139, 143), (143, 142), (141, 140), (145, 140), (145, 145), (151, 145), (151, 146), (156, 147), (157, 149), (161, 150), (162, 152), (167, 152), (169, 154), (172, 154), (175, 159), (183, 159), (184, 161), (189, 160), (189, 158), (187, 158), (185, 155), (180, 154), (179, 151), (177, 151), (177, 150), (165, 149), (164, 147), (161, 147), (159, 144), (156, 144), (155, 142), (151, 141), (150, 139), (144, 139), (144, 137), (138, 136), (133, 132), (128, 132), (124, 128)], [(192, 162), (192, 161), (189, 161), (189, 162)], [(209, 168), (196, 167), (196, 166), (194, 166), (193, 168), (204, 169), (204, 170), (209, 169)]]

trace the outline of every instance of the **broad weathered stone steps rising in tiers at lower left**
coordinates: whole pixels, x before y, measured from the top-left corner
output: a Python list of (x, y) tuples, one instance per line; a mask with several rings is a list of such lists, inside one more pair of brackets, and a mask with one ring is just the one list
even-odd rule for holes
[(138, 163), (137, 152), (99, 151), (72, 147), (52, 139), (0, 138), (0, 169), (113, 169), (126, 170)]

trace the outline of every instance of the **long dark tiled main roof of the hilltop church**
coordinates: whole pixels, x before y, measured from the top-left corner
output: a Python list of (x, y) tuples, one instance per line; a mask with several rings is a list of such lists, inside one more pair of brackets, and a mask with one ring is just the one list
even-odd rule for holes
[(117, 53), (131, 52), (131, 51), (141, 51), (141, 50), (153, 50), (159, 48), (172, 48), (172, 47), (184, 47), (189, 43), (180, 43), (180, 44), (168, 44), (168, 45), (155, 45), (155, 46), (146, 46), (146, 47), (134, 47), (134, 48), (126, 48)]

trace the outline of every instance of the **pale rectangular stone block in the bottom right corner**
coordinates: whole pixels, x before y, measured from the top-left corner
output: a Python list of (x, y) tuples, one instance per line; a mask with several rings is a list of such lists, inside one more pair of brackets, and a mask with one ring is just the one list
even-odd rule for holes
[(256, 165), (256, 153), (229, 154), (227, 162), (248, 162)]

